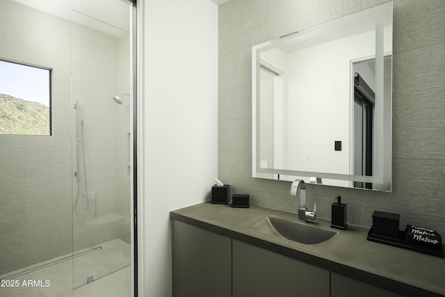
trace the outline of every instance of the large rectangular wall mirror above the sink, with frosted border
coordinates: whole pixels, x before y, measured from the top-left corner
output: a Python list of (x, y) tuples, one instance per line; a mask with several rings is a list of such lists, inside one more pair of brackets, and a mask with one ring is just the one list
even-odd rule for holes
[(391, 191), (392, 2), (252, 47), (252, 175)]

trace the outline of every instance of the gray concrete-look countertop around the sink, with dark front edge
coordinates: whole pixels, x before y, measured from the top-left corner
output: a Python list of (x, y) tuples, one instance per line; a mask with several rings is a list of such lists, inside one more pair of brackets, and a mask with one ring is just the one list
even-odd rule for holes
[[(308, 246), (284, 239), (267, 217), (339, 232), (333, 239)], [(308, 223), (297, 214), (250, 206), (232, 208), (203, 202), (170, 212), (170, 218), (195, 225), (301, 262), (327, 269), (403, 296), (445, 296), (445, 259), (366, 240), (369, 229), (330, 227), (329, 220)]]

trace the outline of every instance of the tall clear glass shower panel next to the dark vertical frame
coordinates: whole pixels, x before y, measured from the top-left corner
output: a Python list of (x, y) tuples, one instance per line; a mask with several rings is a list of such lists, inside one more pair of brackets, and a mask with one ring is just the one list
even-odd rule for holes
[[(115, 19), (129, 19), (123, 4)], [(76, 288), (131, 264), (131, 47), (129, 29), (74, 10), (71, 16)]]

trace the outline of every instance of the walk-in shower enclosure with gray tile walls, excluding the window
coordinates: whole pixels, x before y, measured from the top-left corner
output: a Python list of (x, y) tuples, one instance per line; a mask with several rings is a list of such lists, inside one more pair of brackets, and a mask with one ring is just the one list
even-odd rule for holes
[(0, 0), (0, 60), (51, 72), (51, 135), (0, 135), (0, 279), (56, 296), (131, 265), (131, 4), (43, 2)]

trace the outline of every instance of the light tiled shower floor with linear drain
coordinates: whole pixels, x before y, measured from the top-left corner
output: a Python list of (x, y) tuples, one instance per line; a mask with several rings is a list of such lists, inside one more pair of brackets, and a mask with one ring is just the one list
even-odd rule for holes
[[(59, 257), (53, 259), (56, 260), (54, 264), (51, 264), (52, 260), (42, 263), (47, 264), (42, 268), (32, 269), (38, 267), (33, 265), (31, 270), (26, 269), (26, 273), (15, 271), (8, 273), (8, 278), (1, 275), (0, 297), (131, 296), (130, 245), (113, 239), (99, 246), (74, 259)], [(90, 276), (95, 281), (87, 284)], [(11, 280), (18, 281), (18, 287), (5, 287), (10, 286)], [(34, 282), (28, 287), (26, 282), (29, 280)], [(45, 281), (49, 286), (45, 287)], [(74, 290), (73, 281), (78, 287)]]

